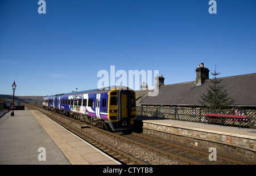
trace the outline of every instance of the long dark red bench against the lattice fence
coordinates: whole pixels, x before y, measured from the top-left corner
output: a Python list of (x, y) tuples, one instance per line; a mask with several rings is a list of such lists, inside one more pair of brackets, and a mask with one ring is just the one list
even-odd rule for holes
[[(247, 122), (247, 115), (230, 115), (230, 114), (211, 114), (211, 113), (207, 113), (205, 114), (205, 118), (204, 119), (212, 119), (212, 120), (216, 120), (216, 121), (231, 121), (231, 122), (239, 122), (239, 128), (241, 123), (243, 122)], [(205, 124), (206, 121), (204, 121)], [(209, 121), (208, 121), (209, 124)], [(221, 125), (221, 124), (220, 124)], [(225, 126), (225, 123), (224, 123)]]

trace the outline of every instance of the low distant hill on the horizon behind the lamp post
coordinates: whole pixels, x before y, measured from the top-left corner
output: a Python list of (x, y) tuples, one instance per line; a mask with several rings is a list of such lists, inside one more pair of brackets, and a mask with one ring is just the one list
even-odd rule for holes
[[(42, 104), (42, 98), (43, 96), (14, 96), (15, 102), (23, 102), (27, 104)], [(7, 101), (13, 101), (12, 95), (0, 95), (0, 102), (7, 102)]]

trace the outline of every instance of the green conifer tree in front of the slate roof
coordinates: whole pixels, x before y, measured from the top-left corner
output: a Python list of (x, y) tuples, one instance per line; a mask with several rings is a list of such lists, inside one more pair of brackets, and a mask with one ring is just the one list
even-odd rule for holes
[[(234, 106), (234, 100), (228, 96), (228, 90), (221, 84), (221, 79), (217, 79), (216, 76), (220, 75), (220, 72), (216, 72), (216, 66), (214, 72), (211, 74), (214, 76), (210, 79), (211, 84), (207, 89), (207, 93), (201, 95), (200, 104), (204, 108), (209, 109), (229, 109)], [(231, 107), (230, 107), (231, 106)]]

